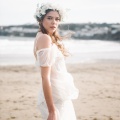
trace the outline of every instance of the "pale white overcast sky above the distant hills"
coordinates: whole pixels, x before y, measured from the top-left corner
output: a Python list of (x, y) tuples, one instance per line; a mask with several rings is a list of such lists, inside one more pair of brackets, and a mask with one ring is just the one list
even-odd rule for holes
[(120, 0), (0, 0), (0, 26), (37, 23), (37, 3), (69, 9), (63, 23), (120, 23)]

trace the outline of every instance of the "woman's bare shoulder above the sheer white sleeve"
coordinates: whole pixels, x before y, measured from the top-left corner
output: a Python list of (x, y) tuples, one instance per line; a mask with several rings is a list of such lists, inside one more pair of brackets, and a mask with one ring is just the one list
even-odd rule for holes
[(47, 34), (38, 34), (36, 46), (38, 49), (50, 47), (52, 40)]

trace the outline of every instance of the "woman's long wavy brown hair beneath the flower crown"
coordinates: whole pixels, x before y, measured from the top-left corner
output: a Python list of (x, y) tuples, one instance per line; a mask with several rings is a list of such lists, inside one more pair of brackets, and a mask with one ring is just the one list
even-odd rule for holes
[[(44, 28), (44, 26), (42, 24), (42, 21), (43, 21), (44, 17), (46, 16), (46, 14), (49, 13), (50, 11), (54, 11), (54, 10), (47, 9), (45, 11), (45, 15), (42, 15), (41, 18), (36, 17), (37, 22), (39, 23), (39, 30), (38, 30), (38, 32), (42, 32), (44, 34), (48, 34), (47, 30)], [(58, 14), (59, 14), (58, 10), (55, 10), (55, 11), (57, 11)], [(59, 14), (59, 16), (60, 16), (60, 14)], [(61, 16), (60, 16), (60, 20), (61, 20)], [(64, 47), (64, 44), (62, 43), (62, 40), (65, 39), (66, 37), (60, 36), (59, 33), (57, 32), (57, 30), (50, 37), (52, 39), (52, 42), (57, 45), (58, 49), (62, 52), (62, 54), (65, 57), (69, 56), (70, 53), (66, 50), (66, 48)]]

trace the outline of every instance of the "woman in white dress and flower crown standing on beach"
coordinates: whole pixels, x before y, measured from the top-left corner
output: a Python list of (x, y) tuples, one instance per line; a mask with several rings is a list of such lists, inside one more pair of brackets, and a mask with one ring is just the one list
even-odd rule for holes
[(40, 26), (34, 43), (34, 55), (42, 78), (38, 99), (42, 118), (76, 120), (71, 100), (76, 99), (79, 92), (67, 72), (64, 61), (67, 52), (61, 44), (62, 38), (57, 34), (63, 12), (58, 6), (46, 3), (38, 6), (35, 18)]

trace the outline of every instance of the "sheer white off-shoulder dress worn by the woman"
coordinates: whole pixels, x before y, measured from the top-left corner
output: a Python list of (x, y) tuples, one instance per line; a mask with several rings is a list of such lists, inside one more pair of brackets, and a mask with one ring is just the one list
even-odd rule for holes
[[(55, 44), (50, 48), (36, 51), (36, 66), (51, 66), (51, 88), (57, 120), (77, 120), (72, 99), (77, 99), (78, 89), (74, 85), (73, 77), (67, 72), (64, 56)], [(44, 98), (42, 85), (38, 95), (38, 108), (43, 120), (48, 118), (48, 108)]]

